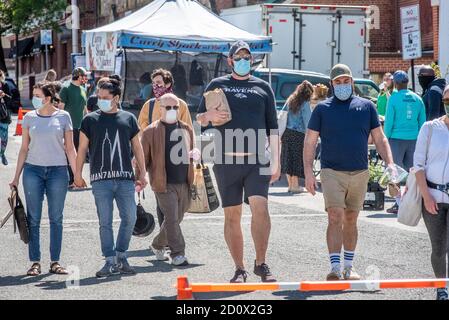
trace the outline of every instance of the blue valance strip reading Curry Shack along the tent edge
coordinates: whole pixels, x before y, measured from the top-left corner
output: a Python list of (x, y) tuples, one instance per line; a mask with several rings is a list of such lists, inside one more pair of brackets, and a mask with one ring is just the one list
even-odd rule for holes
[[(196, 41), (183, 39), (161, 39), (136, 34), (122, 33), (119, 47), (134, 49), (153, 49), (161, 51), (183, 51), (198, 53), (228, 53), (231, 42)], [(272, 51), (271, 40), (248, 41), (252, 53), (269, 53)]]

